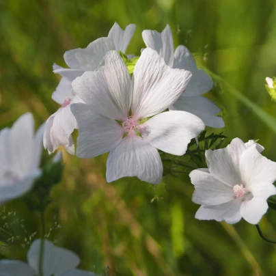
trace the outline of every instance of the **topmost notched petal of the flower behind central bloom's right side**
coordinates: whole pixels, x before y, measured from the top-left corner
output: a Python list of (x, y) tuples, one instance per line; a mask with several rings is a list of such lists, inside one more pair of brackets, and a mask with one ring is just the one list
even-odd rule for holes
[(165, 63), (172, 67), (174, 64), (174, 40), (169, 25), (163, 29), (162, 33), (155, 30), (144, 30), (142, 36), (146, 46), (155, 50), (163, 57)]

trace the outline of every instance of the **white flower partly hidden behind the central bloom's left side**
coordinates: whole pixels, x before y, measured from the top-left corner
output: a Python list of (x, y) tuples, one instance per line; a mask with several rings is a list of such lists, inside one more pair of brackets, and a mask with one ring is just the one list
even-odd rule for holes
[(62, 77), (52, 98), (61, 107), (46, 121), (44, 132), (44, 148), (49, 153), (64, 146), (70, 154), (74, 154), (74, 141), (72, 132), (77, 128), (77, 122), (70, 111), (70, 105), (83, 102), (72, 90), (72, 81), (81, 76), (85, 71), (94, 71), (100, 64), (105, 54), (110, 50), (125, 52), (135, 31), (135, 25), (130, 24), (125, 30), (115, 23), (107, 38), (98, 38), (91, 42), (85, 49), (74, 49), (64, 54), (64, 60), (70, 68), (62, 68), (54, 64), (53, 72)]

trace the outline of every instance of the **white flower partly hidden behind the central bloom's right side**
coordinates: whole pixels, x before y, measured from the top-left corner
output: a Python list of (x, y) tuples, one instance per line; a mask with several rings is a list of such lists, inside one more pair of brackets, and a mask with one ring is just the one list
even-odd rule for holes
[(208, 98), (201, 96), (212, 89), (212, 79), (204, 70), (197, 69), (193, 55), (185, 46), (180, 45), (174, 51), (174, 41), (169, 25), (162, 33), (144, 30), (142, 36), (146, 46), (156, 50), (165, 59), (168, 66), (189, 70), (192, 73), (191, 80), (183, 94), (169, 109), (193, 113), (202, 119), (206, 126), (223, 128), (223, 119), (216, 115), (221, 109)]

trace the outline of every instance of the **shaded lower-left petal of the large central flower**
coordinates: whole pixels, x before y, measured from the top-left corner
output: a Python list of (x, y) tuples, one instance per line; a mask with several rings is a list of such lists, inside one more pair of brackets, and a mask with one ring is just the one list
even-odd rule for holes
[(93, 158), (118, 146), (124, 135), (118, 122), (94, 112), (89, 105), (75, 104), (71, 110), (79, 126), (78, 157)]

